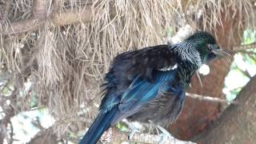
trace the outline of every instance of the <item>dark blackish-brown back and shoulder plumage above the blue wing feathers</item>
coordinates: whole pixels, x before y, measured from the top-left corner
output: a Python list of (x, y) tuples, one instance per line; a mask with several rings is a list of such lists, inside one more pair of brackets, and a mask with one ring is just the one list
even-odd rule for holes
[(153, 81), (153, 70), (170, 70), (175, 64), (176, 59), (170, 46), (158, 45), (119, 54), (114, 58), (111, 70), (114, 70), (117, 77), (133, 80), (140, 75)]

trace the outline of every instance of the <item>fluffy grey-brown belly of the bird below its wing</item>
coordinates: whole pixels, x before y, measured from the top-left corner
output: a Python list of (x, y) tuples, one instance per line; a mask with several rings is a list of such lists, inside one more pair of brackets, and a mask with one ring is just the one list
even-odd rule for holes
[(140, 110), (127, 119), (136, 122), (154, 122), (160, 125), (174, 122), (182, 111), (185, 89), (177, 81), (164, 82), (158, 89), (158, 96), (146, 102)]

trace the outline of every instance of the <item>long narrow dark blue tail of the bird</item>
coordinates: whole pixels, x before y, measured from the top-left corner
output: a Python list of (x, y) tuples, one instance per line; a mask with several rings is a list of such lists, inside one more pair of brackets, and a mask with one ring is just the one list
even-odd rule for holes
[(105, 113), (101, 111), (79, 144), (94, 144), (98, 142), (98, 139), (101, 138), (104, 131), (110, 127), (117, 110), (118, 106), (114, 106)]

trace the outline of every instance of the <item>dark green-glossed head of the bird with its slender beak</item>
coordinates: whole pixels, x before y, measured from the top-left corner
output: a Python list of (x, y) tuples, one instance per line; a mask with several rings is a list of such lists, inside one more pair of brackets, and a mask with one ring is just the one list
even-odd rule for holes
[(213, 35), (207, 32), (197, 32), (186, 39), (187, 42), (193, 43), (194, 48), (200, 54), (202, 63), (210, 62), (210, 60), (220, 56), (229, 58), (230, 54), (220, 49)]

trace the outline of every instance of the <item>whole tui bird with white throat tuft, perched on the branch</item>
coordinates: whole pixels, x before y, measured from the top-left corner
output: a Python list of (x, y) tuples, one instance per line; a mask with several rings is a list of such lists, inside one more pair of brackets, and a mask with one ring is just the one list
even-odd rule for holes
[(174, 122), (196, 70), (217, 56), (227, 55), (214, 36), (202, 31), (172, 46), (119, 54), (106, 74), (99, 114), (80, 143), (98, 142), (105, 130), (123, 118), (159, 125)]

